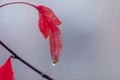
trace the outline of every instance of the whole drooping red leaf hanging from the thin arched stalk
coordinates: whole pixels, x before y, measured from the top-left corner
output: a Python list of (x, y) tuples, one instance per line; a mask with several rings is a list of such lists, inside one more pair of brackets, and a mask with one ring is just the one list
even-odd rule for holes
[(53, 63), (56, 64), (62, 52), (61, 32), (57, 27), (61, 24), (61, 21), (55, 16), (50, 8), (45, 6), (37, 6), (36, 8), (40, 15), (39, 29), (45, 38), (50, 35), (49, 43), (51, 57), (53, 59)]

